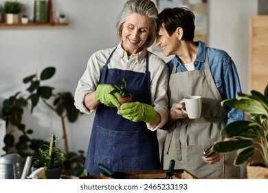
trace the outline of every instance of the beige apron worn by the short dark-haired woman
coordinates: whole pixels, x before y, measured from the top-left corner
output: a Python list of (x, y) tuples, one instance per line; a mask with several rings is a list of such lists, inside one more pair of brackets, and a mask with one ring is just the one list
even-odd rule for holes
[(234, 166), (236, 152), (223, 156), (221, 161), (208, 164), (202, 156), (206, 148), (215, 141), (223, 141), (220, 135), (225, 125), (225, 108), (221, 107), (221, 94), (216, 88), (208, 57), (205, 70), (193, 70), (170, 75), (168, 94), (169, 105), (178, 103), (189, 95), (202, 96), (202, 112), (199, 119), (179, 119), (173, 123), (164, 142), (164, 170), (168, 169), (171, 159), (175, 159), (175, 169), (184, 169), (197, 178), (240, 177), (240, 167)]

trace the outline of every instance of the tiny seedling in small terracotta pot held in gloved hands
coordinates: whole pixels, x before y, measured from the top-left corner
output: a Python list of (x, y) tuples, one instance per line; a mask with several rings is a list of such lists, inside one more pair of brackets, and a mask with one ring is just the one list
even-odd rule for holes
[[(113, 87), (115, 88), (113, 92), (118, 92), (121, 96), (118, 98), (120, 105), (132, 101), (132, 94), (126, 89), (126, 80), (124, 78), (121, 80), (120, 85), (113, 84)], [(120, 108), (118, 108), (118, 110), (120, 110)]]

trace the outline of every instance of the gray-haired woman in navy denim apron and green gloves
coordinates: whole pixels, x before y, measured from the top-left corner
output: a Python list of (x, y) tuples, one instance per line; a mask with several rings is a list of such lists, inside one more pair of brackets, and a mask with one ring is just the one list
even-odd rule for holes
[[(130, 0), (117, 23), (120, 43), (94, 53), (75, 92), (81, 112), (96, 110), (85, 168), (100, 174), (98, 163), (113, 171), (160, 169), (156, 130), (168, 119), (168, 68), (148, 52), (157, 34), (153, 1)], [(133, 101), (121, 105), (113, 83), (124, 78)]]

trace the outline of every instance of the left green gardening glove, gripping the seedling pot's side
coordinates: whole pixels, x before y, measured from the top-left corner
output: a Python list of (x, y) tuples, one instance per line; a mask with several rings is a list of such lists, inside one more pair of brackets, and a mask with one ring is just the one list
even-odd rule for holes
[(112, 85), (109, 84), (99, 84), (96, 89), (96, 100), (109, 107), (120, 107), (118, 98), (120, 97), (119, 92), (114, 91)]

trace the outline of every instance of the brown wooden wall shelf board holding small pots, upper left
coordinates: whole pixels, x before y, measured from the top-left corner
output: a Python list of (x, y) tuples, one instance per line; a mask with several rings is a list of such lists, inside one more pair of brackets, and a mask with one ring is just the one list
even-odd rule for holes
[(0, 23), (0, 28), (8, 28), (8, 27), (60, 27), (60, 26), (68, 26), (69, 23)]

